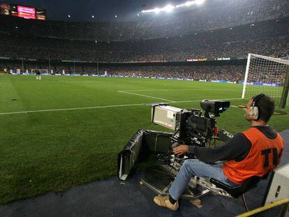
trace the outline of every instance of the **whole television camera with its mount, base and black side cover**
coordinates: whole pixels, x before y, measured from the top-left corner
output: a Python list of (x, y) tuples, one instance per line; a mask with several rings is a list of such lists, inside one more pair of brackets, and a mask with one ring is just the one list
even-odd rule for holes
[[(218, 130), (216, 117), (230, 107), (228, 100), (202, 100), (198, 109), (181, 109), (165, 103), (151, 106), (151, 121), (173, 131), (173, 133), (138, 130), (124, 149), (119, 152), (118, 175), (125, 181), (135, 170), (138, 161), (147, 160), (150, 154), (156, 161), (147, 167), (140, 183), (158, 195), (168, 195), (168, 189), (179, 172), (181, 165), (188, 157), (175, 156), (172, 148), (179, 144), (209, 147), (212, 140), (223, 142), (230, 140), (232, 135), (225, 130)], [(173, 147), (172, 147), (173, 146)], [(234, 197), (229, 188), (225, 190), (210, 178), (192, 177), (188, 188), (181, 196), (185, 199), (198, 199), (208, 193)], [(228, 190), (229, 189), (229, 190)], [(238, 189), (237, 189), (238, 190)], [(242, 191), (242, 190), (241, 190)], [(240, 191), (240, 192), (241, 192)]]

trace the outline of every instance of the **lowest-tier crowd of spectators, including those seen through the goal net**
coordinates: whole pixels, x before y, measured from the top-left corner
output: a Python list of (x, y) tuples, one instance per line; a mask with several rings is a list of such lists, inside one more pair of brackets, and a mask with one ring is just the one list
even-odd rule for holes
[[(260, 66), (262, 67), (262, 66)], [(154, 78), (177, 78), (190, 80), (227, 80), (230, 82), (244, 81), (246, 65), (229, 65), (229, 66), (91, 66), (91, 64), (69, 65), (69, 64), (52, 64), (46, 63), (22, 65), (20, 63), (0, 63), (0, 72), (6, 68), (8, 73), (33, 73), (32, 70), (40, 70), (41, 73), (49, 74), (77, 74), (77, 75), (99, 75), (114, 77), (154, 77)], [(262, 74), (249, 74), (248, 82), (264, 82), (283, 84), (286, 68), (259, 68)], [(280, 70), (280, 71), (279, 71)]]

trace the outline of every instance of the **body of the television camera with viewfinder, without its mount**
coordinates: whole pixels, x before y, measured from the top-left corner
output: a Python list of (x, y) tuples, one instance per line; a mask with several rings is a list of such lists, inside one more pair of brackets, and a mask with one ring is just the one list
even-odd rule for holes
[[(205, 147), (214, 136), (216, 118), (228, 110), (230, 101), (202, 100), (200, 106), (205, 110), (181, 109), (168, 104), (154, 104), (151, 107), (151, 121), (175, 132), (172, 142)], [(211, 114), (210, 114), (211, 113)]]

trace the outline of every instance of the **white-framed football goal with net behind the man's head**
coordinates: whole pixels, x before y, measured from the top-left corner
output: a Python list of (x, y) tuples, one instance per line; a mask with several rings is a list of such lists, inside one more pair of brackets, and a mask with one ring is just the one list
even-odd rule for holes
[[(258, 54), (249, 54), (242, 98), (265, 93), (279, 103), (289, 105), (289, 61)], [(287, 101), (287, 103), (286, 103)]]

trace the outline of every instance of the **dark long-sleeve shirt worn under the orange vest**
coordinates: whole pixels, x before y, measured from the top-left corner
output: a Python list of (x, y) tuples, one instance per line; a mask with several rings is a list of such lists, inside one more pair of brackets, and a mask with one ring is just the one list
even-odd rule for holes
[[(260, 130), (267, 138), (273, 140), (276, 138), (276, 131), (270, 126), (253, 126)], [(205, 163), (214, 163), (218, 160), (236, 160), (240, 162), (246, 158), (251, 150), (250, 140), (243, 134), (238, 133), (231, 140), (225, 142), (214, 149), (206, 147), (189, 146), (188, 154)]]

